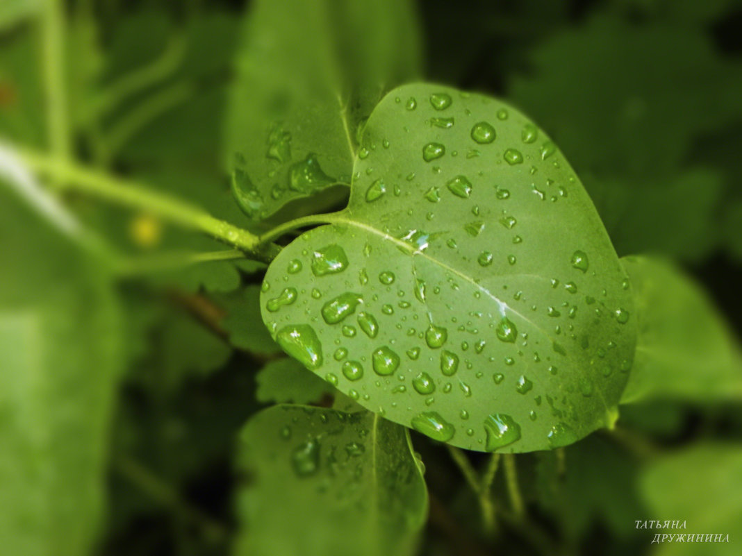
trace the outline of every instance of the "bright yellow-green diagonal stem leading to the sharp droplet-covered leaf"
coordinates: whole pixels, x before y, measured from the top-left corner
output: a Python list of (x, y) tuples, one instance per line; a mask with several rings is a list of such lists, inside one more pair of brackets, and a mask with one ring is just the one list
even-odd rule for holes
[(180, 199), (152, 191), (139, 182), (119, 179), (91, 170), (70, 160), (24, 151), (22, 158), (33, 170), (53, 176), (62, 190), (80, 191), (101, 199), (147, 211), (155, 216), (220, 239), (240, 249), (246, 257), (270, 262), (280, 251), (275, 244), (261, 245), (260, 238), (243, 228), (214, 218), (206, 211)]

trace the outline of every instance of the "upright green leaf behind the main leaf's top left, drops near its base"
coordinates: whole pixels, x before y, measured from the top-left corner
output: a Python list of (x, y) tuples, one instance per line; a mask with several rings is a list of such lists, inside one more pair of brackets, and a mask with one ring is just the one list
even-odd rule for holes
[(240, 206), (263, 219), (349, 183), (359, 126), (418, 76), (418, 30), (410, 0), (258, 0), (244, 36), (228, 153)]

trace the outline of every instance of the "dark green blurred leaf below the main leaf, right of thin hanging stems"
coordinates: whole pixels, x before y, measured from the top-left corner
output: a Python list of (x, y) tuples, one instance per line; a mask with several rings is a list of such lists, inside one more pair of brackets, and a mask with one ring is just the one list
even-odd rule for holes
[(620, 537), (632, 535), (643, 512), (635, 485), (639, 463), (606, 437), (593, 434), (565, 448), (539, 454), (539, 503), (560, 529), (579, 539), (596, 523)]

